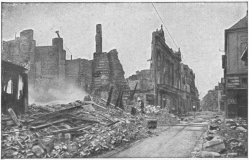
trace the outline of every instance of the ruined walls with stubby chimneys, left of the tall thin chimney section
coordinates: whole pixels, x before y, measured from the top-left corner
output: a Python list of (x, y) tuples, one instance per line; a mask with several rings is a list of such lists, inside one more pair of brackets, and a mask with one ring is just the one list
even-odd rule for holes
[(52, 39), (51, 46), (36, 46), (33, 30), (24, 30), (20, 38), (3, 42), (2, 59), (29, 69), (29, 85), (42, 88), (54, 81), (70, 82), (89, 90), (91, 61), (66, 60), (63, 39)]

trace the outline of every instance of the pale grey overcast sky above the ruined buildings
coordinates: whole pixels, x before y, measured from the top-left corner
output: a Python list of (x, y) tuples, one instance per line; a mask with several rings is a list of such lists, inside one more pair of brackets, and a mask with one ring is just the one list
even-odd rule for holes
[[(246, 15), (247, 3), (154, 3), (193, 69), (202, 98), (223, 76), (224, 30)], [(151, 3), (2, 3), (2, 40), (34, 30), (37, 46), (52, 44), (59, 30), (73, 58), (92, 59), (96, 24), (103, 51), (117, 49), (125, 77), (149, 69), (152, 32), (162, 24)], [(177, 50), (164, 26), (166, 43)], [(67, 51), (69, 59), (71, 53)]]

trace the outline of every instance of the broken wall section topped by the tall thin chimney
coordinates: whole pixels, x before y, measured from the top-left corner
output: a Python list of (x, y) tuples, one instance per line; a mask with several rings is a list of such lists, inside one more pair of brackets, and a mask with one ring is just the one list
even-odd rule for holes
[(107, 99), (111, 86), (114, 86), (113, 100), (117, 99), (118, 92), (124, 92), (123, 98), (129, 96), (129, 87), (124, 78), (124, 70), (118, 59), (116, 49), (110, 52), (102, 52), (102, 30), (101, 24), (96, 26), (96, 52), (92, 64), (92, 93)]

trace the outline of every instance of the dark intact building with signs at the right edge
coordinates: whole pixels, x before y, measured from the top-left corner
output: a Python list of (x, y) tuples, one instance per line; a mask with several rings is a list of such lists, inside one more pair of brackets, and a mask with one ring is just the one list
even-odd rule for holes
[(248, 116), (247, 47), (248, 14), (225, 30), (222, 68), (225, 79), (226, 116), (229, 118)]

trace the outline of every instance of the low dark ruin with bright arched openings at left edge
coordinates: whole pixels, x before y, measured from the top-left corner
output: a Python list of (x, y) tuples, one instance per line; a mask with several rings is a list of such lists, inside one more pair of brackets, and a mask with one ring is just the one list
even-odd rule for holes
[(1, 61), (1, 112), (12, 108), (16, 114), (28, 111), (28, 75), (19, 65)]

